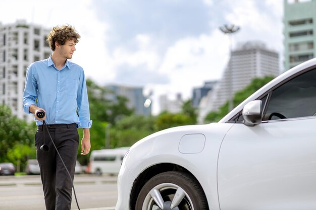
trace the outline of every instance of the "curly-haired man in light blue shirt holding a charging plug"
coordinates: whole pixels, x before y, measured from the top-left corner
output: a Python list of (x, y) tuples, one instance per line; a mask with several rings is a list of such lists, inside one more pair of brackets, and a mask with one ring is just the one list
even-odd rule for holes
[[(27, 68), (23, 105), (26, 113), (35, 114), (38, 126), (35, 146), (47, 210), (71, 207), (72, 180), (79, 145), (77, 128), (83, 128), (81, 155), (90, 151), (89, 128), (92, 120), (84, 72), (81, 66), (67, 60), (72, 58), (79, 38), (72, 26), (52, 28), (47, 37), (52, 54), (48, 59), (36, 61)], [(38, 111), (44, 111), (45, 116), (38, 118)], [(72, 179), (52, 146), (42, 120), (45, 120)], [(49, 147), (48, 152), (40, 150), (43, 144)]]

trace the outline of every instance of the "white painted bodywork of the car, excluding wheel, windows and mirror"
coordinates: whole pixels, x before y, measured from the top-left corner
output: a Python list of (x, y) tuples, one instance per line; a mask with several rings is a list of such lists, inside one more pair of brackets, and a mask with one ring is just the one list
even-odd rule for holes
[(219, 123), (170, 128), (137, 142), (122, 163), (116, 210), (130, 209), (134, 180), (161, 163), (188, 170), (202, 186), (210, 210), (316, 209), (316, 116), (255, 126), (226, 123), (248, 102), (312, 66), (316, 58), (259, 89)]

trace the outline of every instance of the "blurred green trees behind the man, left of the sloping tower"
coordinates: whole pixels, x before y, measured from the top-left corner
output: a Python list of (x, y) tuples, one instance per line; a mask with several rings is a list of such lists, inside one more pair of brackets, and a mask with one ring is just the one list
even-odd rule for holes
[[(91, 151), (106, 148), (107, 137), (110, 137), (111, 148), (129, 147), (153, 132), (196, 123), (197, 110), (190, 100), (183, 103), (180, 113), (164, 112), (159, 116), (145, 117), (135, 115), (134, 110), (127, 107), (128, 99), (125, 97), (115, 96), (114, 101), (109, 100), (107, 94), (113, 93), (91, 80), (87, 80), (87, 90), (90, 118), (93, 120), (90, 128)], [(0, 127), (0, 162), (12, 162), (17, 168), (21, 166), (24, 169), (28, 159), (36, 158), (35, 123), (28, 124), (18, 119), (8, 106), (0, 105)], [(81, 143), (83, 130), (78, 129), (78, 132)], [(79, 146), (77, 159), (86, 165), (90, 154), (81, 156), (80, 150)]]

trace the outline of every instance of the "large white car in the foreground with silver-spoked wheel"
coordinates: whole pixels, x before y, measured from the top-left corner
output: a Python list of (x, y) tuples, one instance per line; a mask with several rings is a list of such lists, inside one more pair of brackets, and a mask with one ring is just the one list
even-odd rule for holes
[(116, 210), (316, 209), (316, 58), (283, 73), (218, 123), (131, 147)]

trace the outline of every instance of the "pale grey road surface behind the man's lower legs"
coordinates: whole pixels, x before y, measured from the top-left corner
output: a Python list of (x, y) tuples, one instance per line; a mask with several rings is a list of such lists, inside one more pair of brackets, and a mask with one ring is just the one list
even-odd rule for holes
[[(75, 175), (75, 190), (81, 210), (114, 210), (117, 177)], [(78, 209), (73, 193), (71, 209)], [(0, 176), (0, 210), (42, 210), (44, 196), (39, 175)]]

